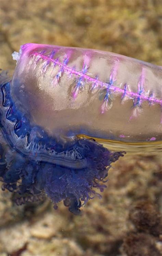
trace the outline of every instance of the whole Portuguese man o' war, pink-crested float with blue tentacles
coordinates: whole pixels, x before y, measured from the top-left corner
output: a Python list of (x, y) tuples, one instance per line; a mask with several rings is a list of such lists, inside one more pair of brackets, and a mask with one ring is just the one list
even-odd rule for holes
[(47, 195), (74, 214), (100, 196), (112, 152), (162, 140), (162, 67), (92, 49), (25, 44), (0, 74), (0, 179), (18, 205)]

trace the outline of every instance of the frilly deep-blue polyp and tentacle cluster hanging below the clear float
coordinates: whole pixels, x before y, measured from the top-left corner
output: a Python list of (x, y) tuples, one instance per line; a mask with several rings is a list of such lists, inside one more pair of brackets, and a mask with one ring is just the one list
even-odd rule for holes
[[(10, 82), (1, 86), (0, 179), (2, 189), (15, 194), (15, 202), (42, 199), (46, 194), (57, 208), (64, 200), (74, 214), (106, 185), (111, 163), (124, 152), (111, 153), (94, 139), (77, 138), (62, 145), (16, 108)], [(81, 203), (82, 202), (82, 203)]]

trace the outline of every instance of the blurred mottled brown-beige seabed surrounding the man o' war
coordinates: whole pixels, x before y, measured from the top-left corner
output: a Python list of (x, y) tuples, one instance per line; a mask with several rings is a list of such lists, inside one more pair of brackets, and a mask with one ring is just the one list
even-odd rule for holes
[[(162, 0), (0, 0), (0, 68), (26, 42), (113, 51), (162, 65)], [(161, 155), (125, 156), (83, 216), (0, 193), (0, 256), (162, 255)]]

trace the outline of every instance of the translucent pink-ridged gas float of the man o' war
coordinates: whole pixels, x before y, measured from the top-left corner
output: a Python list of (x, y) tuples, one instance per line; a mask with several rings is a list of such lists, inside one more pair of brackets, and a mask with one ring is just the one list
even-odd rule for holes
[[(12, 95), (50, 135), (162, 139), (162, 67), (116, 53), (26, 44)], [(61, 133), (60, 133), (61, 131)]]

